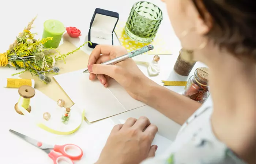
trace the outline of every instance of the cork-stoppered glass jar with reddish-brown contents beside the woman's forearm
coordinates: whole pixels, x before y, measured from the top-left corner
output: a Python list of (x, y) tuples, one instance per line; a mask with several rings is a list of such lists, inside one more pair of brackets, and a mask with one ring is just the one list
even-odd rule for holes
[(197, 68), (194, 75), (188, 79), (183, 95), (197, 102), (204, 103), (210, 95), (208, 73), (208, 68)]

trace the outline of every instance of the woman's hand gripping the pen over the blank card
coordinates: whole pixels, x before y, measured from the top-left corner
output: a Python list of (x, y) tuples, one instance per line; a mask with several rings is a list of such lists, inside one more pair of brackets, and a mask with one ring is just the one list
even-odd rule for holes
[(88, 70), (90, 80), (98, 78), (105, 87), (110, 78), (115, 79), (135, 99), (140, 100), (143, 91), (147, 90), (148, 79), (136, 63), (130, 58), (115, 65), (101, 65), (100, 63), (127, 54), (122, 46), (97, 45), (91, 52)]

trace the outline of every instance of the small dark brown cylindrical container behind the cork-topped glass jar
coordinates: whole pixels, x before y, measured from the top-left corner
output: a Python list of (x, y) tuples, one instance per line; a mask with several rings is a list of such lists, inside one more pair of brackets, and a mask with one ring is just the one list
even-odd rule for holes
[(188, 76), (193, 67), (195, 66), (196, 61), (186, 62), (182, 59), (182, 55), (185, 55), (184, 53), (186, 53), (184, 49), (181, 49), (178, 59), (176, 60), (176, 63), (174, 65), (174, 71), (181, 76)]

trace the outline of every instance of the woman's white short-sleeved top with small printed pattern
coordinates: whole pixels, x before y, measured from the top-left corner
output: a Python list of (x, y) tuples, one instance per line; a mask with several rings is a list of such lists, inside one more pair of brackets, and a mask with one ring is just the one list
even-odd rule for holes
[(184, 125), (165, 154), (142, 164), (245, 164), (212, 132), (212, 106), (203, 104)]

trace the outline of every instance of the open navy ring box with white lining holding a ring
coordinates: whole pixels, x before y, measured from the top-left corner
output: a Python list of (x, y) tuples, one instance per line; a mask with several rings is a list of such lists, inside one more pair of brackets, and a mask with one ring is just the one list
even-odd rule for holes
[(117, 12), (96, 8), (90, 23), (88, 46), (95, 48), (98, 44), (114, 45), (113, 32), (119, 19)]

